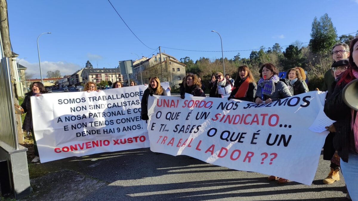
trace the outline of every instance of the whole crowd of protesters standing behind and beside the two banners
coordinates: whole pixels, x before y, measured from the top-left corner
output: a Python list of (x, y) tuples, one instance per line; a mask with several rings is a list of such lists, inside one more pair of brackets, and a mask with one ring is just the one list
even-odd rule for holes
[[(358, 38), (351, 41), (350, 46), (345, 43), (337, 43), (332, 47), (332, 58), (334, 60), (332, 68), (324, 74), (324, 83), (320, 89), (328, 91), (324, 112), (336, 121), (329, 126), (330, 133), (326, 137), (324, 144), (324, 160), (330, 160), (330, 171), (328, 176), (323, 179), (323, 183), (331, 184), (339, 181), (339, 170), (347, 184), (347, 189), (352, 200), (358, 200), (358, 118), (357, 111), (347, 106), (342, 98), (343, 88), (352, 80), (358, 78)], [(308, 85), (305, 82), (306, 74), (303, 68), (295, 67), (286, 72), (286, 78), (279, 78), (278, 69), (271, 63), (263, 64), (259, 70), (260, 79), (255, 82), (251, 70), (242, 65), (238, 67), (235, 80), (231, 75), (225, 76), (217, 72), (205, 86), (201, 78), (193, 73), (188, 73), (179, 84), (180, 97), (185, 98), (185, 94), (196, 97), (205, 97), (205, 89), (209, 90), (209, 97), (238, 99), (255, 103), (271, 103), (282, 98), (291, 97), (308, 92)], [(130, 86), (137, 85), (133, 80)], [(148, 120), (148, 97), (149, 95), (167, 95), (165, 89), (160, 85), (158, 77), (149, 78), (149, 84), (145, 84), (147, 89), (141, 99), (141, 119)], [(121, 82), (113, 83), (112, 88), (124, 87)], [(32, 83), (31, 91), (25, 94), (24, 102), (21, 107), (26, 113), (23, 129), (28, 133), (33, 133), (31, 116), (31, 96), (40, 96), (47, 93), (47, 90), (40, 82)], [(87, 92), (97, 90), (96, 83), (87, 82), (84, 85)], [(170, 88), (169, 88), (170, 90)], [(35, 158), (32, 162), (39, 161), (39, 155), (34, 138)], [(277, 183), (287, 183), (285, 178), (270, 176), (269, 181)], [(349, 198), (349, 195), (347, 197)]]

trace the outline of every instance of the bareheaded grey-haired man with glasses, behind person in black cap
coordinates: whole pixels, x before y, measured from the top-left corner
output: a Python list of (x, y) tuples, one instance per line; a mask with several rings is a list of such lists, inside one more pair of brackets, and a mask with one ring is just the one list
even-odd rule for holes
[[(341, 59), (347, 59), (349, 57), (349, 46), (345, 43), (336, 43), (333, 45), (331, 54), (334, 62), (337, 62)], [(332, 69), (329, 69), (324, 74), (321, 91), (328, 90), (328, 92), (331, 92), (333, 90), (332, 89), (333, 82), (334, 82), (333, 71)]]

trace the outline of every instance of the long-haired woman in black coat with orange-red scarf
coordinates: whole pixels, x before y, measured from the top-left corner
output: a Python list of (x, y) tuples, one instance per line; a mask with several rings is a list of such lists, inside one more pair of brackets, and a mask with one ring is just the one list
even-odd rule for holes
[(246, 65), (242, 65), (237, 69), (234, 88), (228, 100), (233, 98), (253, 102), (256, 88), (255, 79), (253, 78), (250, 69)]

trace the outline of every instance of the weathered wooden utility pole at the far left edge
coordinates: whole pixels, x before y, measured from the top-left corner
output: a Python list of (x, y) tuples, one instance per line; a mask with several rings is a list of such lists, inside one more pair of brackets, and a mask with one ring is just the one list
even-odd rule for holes
[[(0, 32), (1, 32), (1, 40), (4, 47), (4, 56), (10, 58), (10, 61), (12, 58), (12, 51), (11, 51), (11, 44), (10, 44), (10, 35), (9, 35), (9, 22), (8, 22), (8, 5), (6, 3), (6, 0), (0, 0)], [(15, 59), (15, 58), (14, 58)], [(19, 100), (17, 99), (18, 94), (16, 89), (16, 82), (15, 82), (15, 73), (14, 73), (14, 67), (13, 62), (9, 62), (10, 64), (10, 76), (11, 76), (11, 91), (13, 92), (13, 100), (14, 103), (19, 104)], [(24, 136), (23, 131), (21, 129), (21, 116), (15, 115), (16, 118), (16, 129), (18, 131), (18, 142), (23, 143), (24, 142)]]

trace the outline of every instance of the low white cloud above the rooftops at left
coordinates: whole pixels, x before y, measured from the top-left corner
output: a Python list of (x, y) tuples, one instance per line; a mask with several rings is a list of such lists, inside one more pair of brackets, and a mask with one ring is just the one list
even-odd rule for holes
[[(27, 68), (26, 73), (35, 73), (35, 75), (32, 77), (33, 79), (41, 78), (40, 67), (38, 62), (29, 63), (26, 60), (21, 60), (20, 64)], [(59, 70), (61, 72), (61, 75), (63, 76), (63, 75), (71, 75), (81, 68), (82, 67), (80, 65), (74, 63), (48, 62), (48, 61), (41, 62), (42, 78), (47, 78), (46, 73), (48, 71)]]

